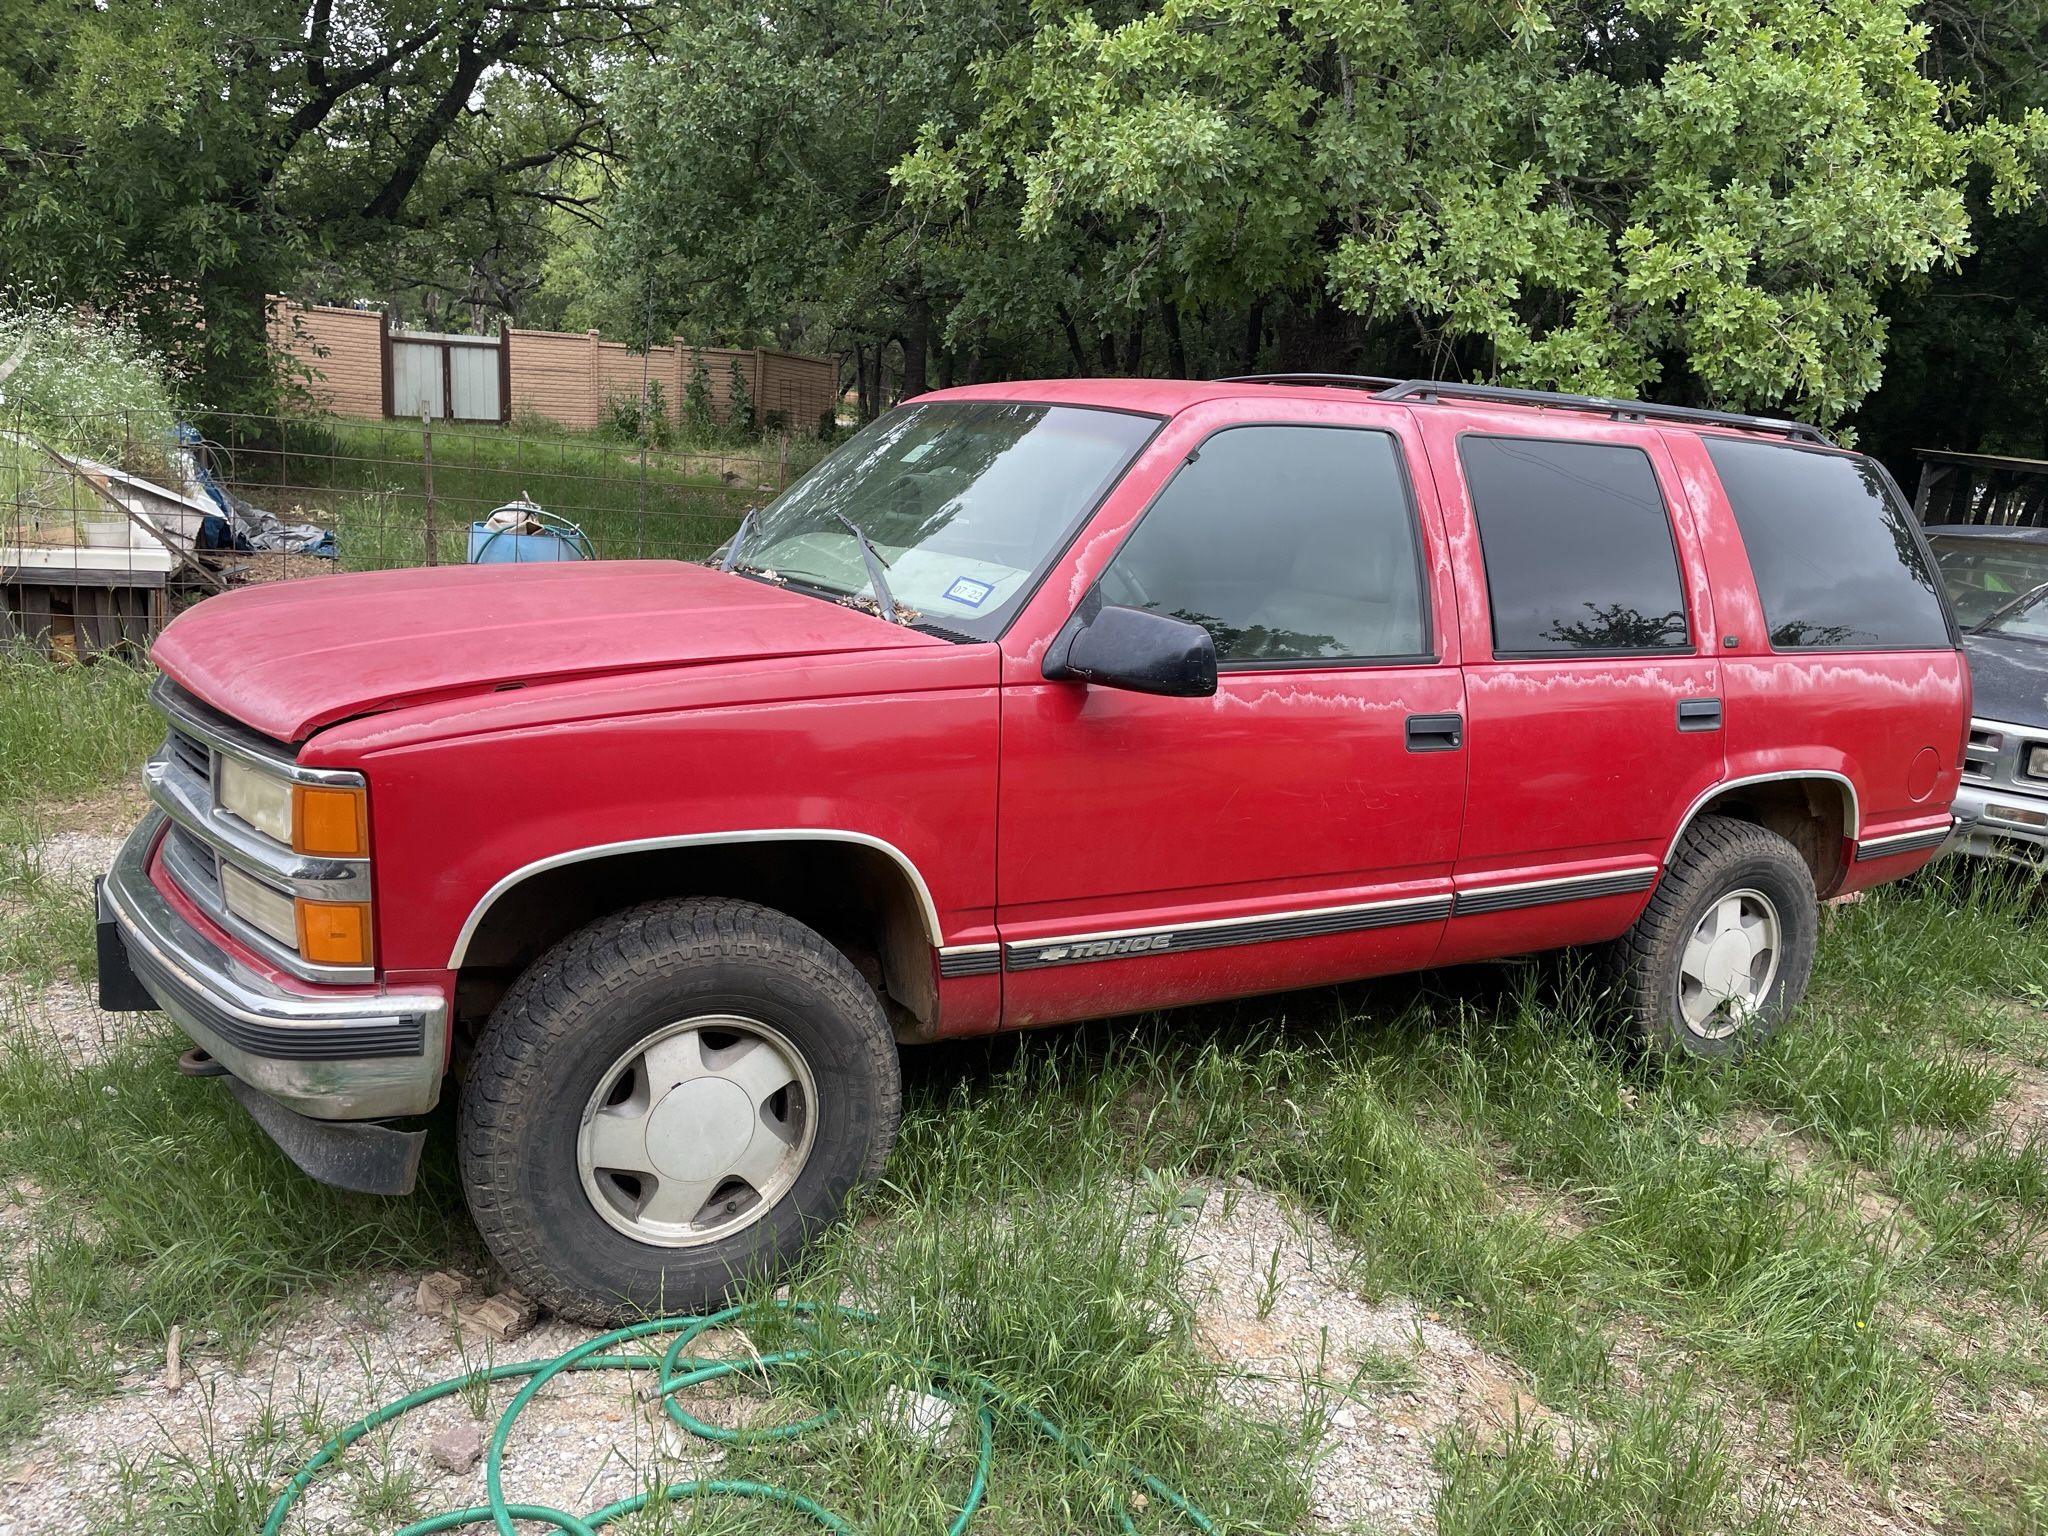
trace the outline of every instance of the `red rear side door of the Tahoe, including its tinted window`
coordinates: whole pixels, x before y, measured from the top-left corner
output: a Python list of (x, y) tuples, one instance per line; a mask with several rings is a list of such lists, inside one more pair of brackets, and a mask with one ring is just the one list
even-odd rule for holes
[(1714, 612), (1657, 432), (1423, 412), (1470, 776), (1440, 961), (1612, 938), (1722, 774)]

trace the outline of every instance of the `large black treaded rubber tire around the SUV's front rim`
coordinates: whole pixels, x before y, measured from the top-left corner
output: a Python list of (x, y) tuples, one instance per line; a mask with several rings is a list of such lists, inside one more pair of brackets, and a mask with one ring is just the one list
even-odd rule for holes
[[(635, 1040), (721, 1012), (772, 1024), (803, 1055), (819, 1100), (809, 1159), (727, 1239), (635, 1241), (584, 1192), (584, 1106)], [(748, 901), (651, 901), (555, 944), (492, 1012), (463, 1083), (463, 1192), (512, 1284), (563, 1317), (610, 1325), (696, 1313), (741, 1280), (784, 1270), (881, 1174), (901, 1108), (889, 1022), (840, 950)]]

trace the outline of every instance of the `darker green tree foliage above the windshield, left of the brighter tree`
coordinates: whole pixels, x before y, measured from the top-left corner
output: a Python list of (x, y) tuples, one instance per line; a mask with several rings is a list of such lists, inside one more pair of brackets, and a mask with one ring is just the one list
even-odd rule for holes
[(629, 334), (645, 309), (655, 334), (840, 346), (868, 414), (885, 352), (905, 395), (971, 375), (971, 344), (938, 336), (958, 295), (948, 221), (913, 209), (891, 168), (924, 123), (971, 119), (971, 61), (1028, 14), (1026, 0), (766, 0), (678, 23), (686, 63), (623, 72), (614, 96), (625, 164), (594, 260), (610, 311)]

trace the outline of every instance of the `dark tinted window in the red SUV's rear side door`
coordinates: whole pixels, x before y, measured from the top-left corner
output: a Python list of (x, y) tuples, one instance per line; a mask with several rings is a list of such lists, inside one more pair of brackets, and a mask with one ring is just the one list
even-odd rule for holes
[(1642, 449), (1460, 438), (1495, 655), (1683, 651), (1686, 594)]

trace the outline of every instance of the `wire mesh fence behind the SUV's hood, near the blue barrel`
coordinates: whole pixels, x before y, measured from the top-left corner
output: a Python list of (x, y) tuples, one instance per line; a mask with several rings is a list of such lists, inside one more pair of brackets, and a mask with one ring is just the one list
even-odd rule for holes
[(657, 446), (530, 426), (0, 408), (0, 641), (143, 643), (199, 596), (336, 571), (702, 559), (821, 453), (795, 434)]

